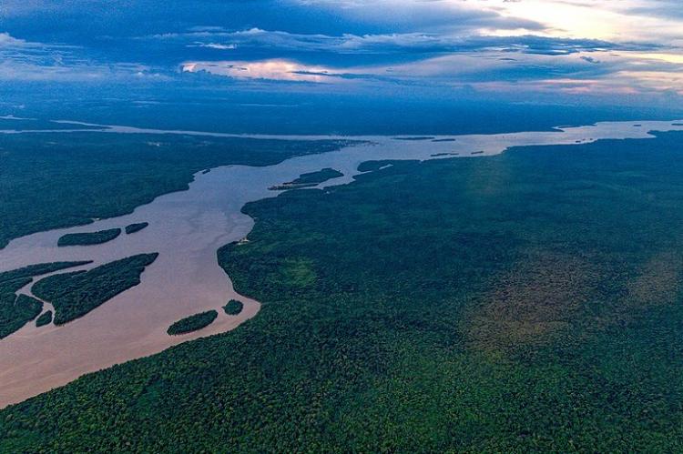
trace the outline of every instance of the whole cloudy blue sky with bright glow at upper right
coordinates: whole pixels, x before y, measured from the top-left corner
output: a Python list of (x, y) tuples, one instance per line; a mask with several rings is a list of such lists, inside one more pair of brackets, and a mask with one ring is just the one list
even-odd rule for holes
[(683, 7), (2, 0), (0, 83), (683, 106)]

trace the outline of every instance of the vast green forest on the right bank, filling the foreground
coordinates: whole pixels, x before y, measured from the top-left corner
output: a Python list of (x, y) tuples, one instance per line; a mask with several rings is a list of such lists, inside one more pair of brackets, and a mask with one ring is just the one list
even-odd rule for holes
[(245, 208), (260, 313), (0, 412), (0, 450), (680, 452), (683, 135)]

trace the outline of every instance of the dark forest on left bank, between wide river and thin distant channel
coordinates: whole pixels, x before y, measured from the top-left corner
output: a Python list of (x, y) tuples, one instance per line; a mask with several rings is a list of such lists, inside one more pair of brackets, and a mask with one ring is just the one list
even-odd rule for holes
[[(268, 166), (345, 141), (45, 133), (0, 135), (0, 247), (15, 237), (130, 213), (207, 167)], [(116, 177), (112, 177), (116, 176)], [(31, 208), (30, 216), (26, 207)]]

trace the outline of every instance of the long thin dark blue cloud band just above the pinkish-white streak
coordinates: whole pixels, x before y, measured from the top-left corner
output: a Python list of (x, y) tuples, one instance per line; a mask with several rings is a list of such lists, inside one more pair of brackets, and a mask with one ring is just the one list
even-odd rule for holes
[(385, 35), (294, 34), (260, 28), (194, 31), (136, 37), (127, 45), (145, 49), (148, 60), (172, 66), (181, 61), (258, 61), (286, 58), (334, 67), (397, 65), (454, 53), (572, 55), (598, 51), (652, 51), (656, 44), (609, 43), (549, 36), (481, 36), (405, 33)]

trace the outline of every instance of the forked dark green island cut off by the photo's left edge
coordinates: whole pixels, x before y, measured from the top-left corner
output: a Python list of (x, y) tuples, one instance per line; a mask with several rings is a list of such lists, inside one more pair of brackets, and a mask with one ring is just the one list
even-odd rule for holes
[(32, 265), (0, 273), (0, 338), (6, 338), (33, 320), (43, 309), (43, 303), (16, 292), (27, 286), (33, 278), (68, 267), (89, 262), (53, 262)]

